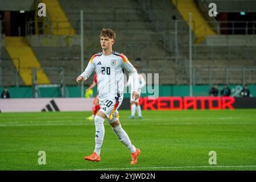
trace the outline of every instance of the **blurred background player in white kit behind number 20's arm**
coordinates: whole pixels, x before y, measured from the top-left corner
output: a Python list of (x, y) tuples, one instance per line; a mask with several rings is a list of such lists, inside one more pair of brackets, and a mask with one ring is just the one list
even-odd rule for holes
[[(136, 71), (138, 72), (138, 68), (134, 67), (136, 69)], [(143, 88), (143, 86), (146, 85), (146, 81), (144, 80), (142, 74), (138, 73), (138, 79), (139, 79), (139, 96), (141, 96), (141, 89)], [(129, 79), (126, 83), (126, 86), (130, 86), (131, 90), (134, 90), (133, 88), (133, 77), (130, 75)], [(131, 97), (130, 97), (130, 103), (131, 103), (131, 115), (129, 117), (129, 119), (134, 119), (135, 116), (135, 111), (137, 111), (138, 114), (138, 118), (142, 119), (142, 114), (141, 114), (141, 106), (139, 105), (139, 99), (134, 100), (133, 98), (133, 94), (131, 93)]]

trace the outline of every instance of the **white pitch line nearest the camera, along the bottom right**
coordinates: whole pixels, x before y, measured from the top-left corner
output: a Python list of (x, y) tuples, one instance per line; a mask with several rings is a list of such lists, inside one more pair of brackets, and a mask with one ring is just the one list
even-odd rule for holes
[[(104, 171), (104, 170), (120, 170), (120, 169), (180, 169), (180, 168), (251, 168), (256, 166), (169, 166), (169, 167), (127, 167), (127, 168), (98, 168), (98, 169), (71, 169), (67, 171)], [(64, 170), (66, 171), (66, 170)]]

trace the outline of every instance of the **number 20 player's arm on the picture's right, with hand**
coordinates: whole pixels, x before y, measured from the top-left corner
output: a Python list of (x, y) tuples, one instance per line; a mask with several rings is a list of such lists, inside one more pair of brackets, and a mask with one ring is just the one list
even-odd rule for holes
[(133, 67), (133, 65), (130, 63), (130, 61), (127, 59), (127, 57), (125, 55), (122, 55), (122, 59), (123, 59), (123, 64), (122, 67), (125, 68), (128, 72), (131, 73), (131, 77), (133, 78), (133, 88), (134, 90), (132, 91), (132, 96), (134, 98), (134, 100), (137, 100), (137, 98), (139, 98), (139, 75), (136, 71), (136, 69)]

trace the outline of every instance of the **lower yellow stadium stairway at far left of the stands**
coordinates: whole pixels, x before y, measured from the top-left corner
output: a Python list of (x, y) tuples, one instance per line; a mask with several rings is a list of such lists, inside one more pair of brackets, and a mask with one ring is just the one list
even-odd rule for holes
[(32, 68), (38, 68), (38, 84), (50, 83), (25, 37), (6, 36), (6, 50), (25, 85), (32, 85)]

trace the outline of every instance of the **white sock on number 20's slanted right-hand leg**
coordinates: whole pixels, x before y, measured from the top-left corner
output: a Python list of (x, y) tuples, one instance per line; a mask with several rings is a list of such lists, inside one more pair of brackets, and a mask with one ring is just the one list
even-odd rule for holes
[(136, 148), (134, 147), (133, 143), (131, 143), (130, 138), (126, 134), (125, 130), (122, 129), (121, 124), (115, 127), (112, 127), (112, 130), (117, 134), (119, 140), (125, 144), (125, 146), (130, 150), (131, 153), (136, 152)]

